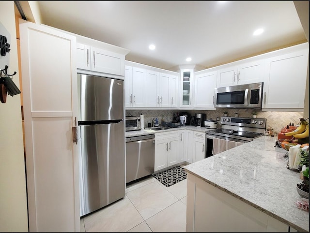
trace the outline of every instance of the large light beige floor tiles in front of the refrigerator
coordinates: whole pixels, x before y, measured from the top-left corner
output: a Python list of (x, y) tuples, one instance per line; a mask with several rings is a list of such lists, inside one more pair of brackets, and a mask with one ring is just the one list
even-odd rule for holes
[(123, 199), (81, 218), (81, 232), (186, 232), (186, 182), (131, 184)]

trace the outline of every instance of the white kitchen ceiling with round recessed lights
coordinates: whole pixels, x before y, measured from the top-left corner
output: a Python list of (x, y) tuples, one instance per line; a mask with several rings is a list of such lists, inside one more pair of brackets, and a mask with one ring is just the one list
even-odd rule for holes
[[(167, 70), (187, 57), (210, 68), (306, 42), (293, 1), (37, 2), (41, 23), (129, 49), (126, 60)], [(259, 28), (263, 34), (253, 36)]]

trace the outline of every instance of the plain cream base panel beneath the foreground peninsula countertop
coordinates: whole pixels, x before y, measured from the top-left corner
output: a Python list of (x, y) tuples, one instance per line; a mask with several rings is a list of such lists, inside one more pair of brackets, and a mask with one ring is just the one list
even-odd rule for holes
[(289, 232), (289, 226), (187, 174), (186, 232)]

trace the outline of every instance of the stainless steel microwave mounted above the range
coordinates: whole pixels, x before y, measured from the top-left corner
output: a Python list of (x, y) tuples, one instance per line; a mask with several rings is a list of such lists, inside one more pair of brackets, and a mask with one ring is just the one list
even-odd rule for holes
[(215, 108), (262, 108), (263, 82), (215, 88)]

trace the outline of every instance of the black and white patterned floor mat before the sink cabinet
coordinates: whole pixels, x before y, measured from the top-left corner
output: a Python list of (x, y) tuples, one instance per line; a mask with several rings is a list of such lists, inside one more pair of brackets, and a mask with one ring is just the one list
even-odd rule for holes
[(152, 176), (166, 187), (170, 187), (187, 178), (186, 171), (180, 166), (173, 167)]

